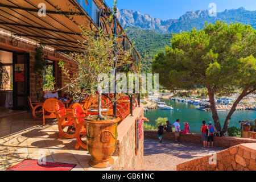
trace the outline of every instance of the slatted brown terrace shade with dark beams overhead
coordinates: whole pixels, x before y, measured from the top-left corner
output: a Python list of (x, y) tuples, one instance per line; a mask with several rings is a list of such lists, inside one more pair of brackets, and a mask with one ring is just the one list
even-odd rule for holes
[[(43, 13), (39, 11), (42, 3), (46, 5), (46, 16), (39, 16)], [(59, 52), (82, 52), (82, 47), (77, 43), (85, 39), (80, 35), (79, 25), (83, 24), (90, 29), (102, 26), (107, 17), (101, 16), (106, 16), (106, 12), (111, 10), (100, 0), (2, 0), (0, 28), (11, 32), (13, 37), (27, 37)], [(115, 32), (121, 32), (122, 38), (119, 41), (125, 49), (125, 44), (131, 42), (123, 35), (119, 22), (115, 21)], [(108, 27), (105, 29), (108, 31)], [(132, 55), (138, 63), (139, 56), (135, 49)]]

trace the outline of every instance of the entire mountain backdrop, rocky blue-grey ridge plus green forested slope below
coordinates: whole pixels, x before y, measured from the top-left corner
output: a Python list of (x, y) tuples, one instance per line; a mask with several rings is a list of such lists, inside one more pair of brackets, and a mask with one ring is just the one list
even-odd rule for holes
[(256, 28), (256, 11), (248, 11), (243, 7), (225, 10), (217, 16), (209, 16), (208, 10), (188, 11), (179, 19), (160, 20), (138, 11), (118, 10), (117, 18), (126, 34), (135, 42), (135, 48), (141, 54), (142, 72), (151, 72), (151, 63), (158, 52), (163, 52), (166, 46), (171, 46), (172, 33), (190, 31), (192, 28), (201, 30), (205, 22), (215, 23), (224, 20), (226, 23), (241, 22)]

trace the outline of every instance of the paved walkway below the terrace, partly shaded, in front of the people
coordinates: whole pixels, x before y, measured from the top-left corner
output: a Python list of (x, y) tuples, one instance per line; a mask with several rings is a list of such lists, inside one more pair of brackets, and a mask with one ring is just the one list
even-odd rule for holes
[(202, 149), (200, 144), (175, 143), (171, 140), (144, 138), (144, 169), (156, 171), (176, 171), (176, 165), (193, 158), (205, 156), (209, 151), (220, 151), (224, 148), (213, 147)]

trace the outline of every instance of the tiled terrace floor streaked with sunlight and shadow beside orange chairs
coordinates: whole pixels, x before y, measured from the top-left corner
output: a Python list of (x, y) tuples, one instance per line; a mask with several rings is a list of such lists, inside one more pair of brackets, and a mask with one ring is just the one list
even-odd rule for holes
[[(0, 118), (0, 170), (6, 170), (24, 159), (76, 164), (72, 170), (97, 170), (89, 166), (88, 151), (75, 150), (75, 139), (57, 139), (57, 122), (33, 121), (31, 113)], [(114, 157), (114, 159), (117, 157)], [(109, 170), (105, 168), (104, 170)]]

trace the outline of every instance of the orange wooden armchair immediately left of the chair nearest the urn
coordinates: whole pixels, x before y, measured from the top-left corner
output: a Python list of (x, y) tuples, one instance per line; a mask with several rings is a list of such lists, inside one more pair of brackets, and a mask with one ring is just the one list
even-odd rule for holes
[(75, 138), (75, 133), (72, 133), (73, 129), (75, 129), (75, 125), (72, 119), (72, 109), (66, 109), (62, 102), (57, 102), (55, 110), (55, 114), (58, 120), (59, 139), (62, 137)]

